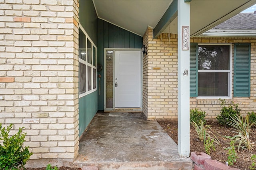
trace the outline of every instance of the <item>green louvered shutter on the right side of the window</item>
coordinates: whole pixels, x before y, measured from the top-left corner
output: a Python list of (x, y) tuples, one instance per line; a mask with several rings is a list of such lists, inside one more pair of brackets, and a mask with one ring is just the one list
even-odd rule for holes
[(251, 44), (234, 44), (234, 97), (250, 97)]

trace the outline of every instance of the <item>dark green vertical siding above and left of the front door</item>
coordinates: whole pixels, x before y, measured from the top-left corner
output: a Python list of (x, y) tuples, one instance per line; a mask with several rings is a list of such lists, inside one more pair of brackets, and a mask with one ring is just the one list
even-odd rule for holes
[[(104, 66), (104, 48), (141, 48), (142, 37), (98, 19), (98, 64)], [(98, 110), (104, 110), (104, 68), (101, 75)]]

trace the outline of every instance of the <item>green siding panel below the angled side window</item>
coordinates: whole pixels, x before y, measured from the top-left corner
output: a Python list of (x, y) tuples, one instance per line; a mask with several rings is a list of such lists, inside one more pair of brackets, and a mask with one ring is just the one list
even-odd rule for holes
[(79, 136), (82, 135), (94, 117), (95, 113), (97, 113), (97, 103), (97, 92), (93, 92), (82, 98), (79, 98)]

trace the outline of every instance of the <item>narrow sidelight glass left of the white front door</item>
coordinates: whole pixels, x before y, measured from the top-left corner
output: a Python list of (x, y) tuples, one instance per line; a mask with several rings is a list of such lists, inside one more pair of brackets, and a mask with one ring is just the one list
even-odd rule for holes
[(106, 108), (113, 108), (113, 59), (114, 51), (106, 53)]

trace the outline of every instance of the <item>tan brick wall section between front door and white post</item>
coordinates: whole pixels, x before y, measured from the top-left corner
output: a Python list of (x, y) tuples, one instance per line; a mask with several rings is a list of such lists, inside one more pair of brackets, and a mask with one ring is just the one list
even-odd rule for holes
[(143, 111), (148, 119), (177, 118), (177, 35), (162, 33), (153, 39), (150, 27), (143, 36), (148, 55), (143, 60)]

